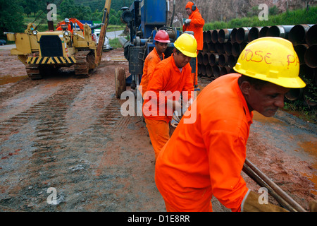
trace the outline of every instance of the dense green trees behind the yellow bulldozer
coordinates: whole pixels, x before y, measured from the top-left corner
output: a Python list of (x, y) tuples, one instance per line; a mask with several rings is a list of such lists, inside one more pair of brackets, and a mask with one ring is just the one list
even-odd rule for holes
[[(109, 24), (122, 24), (120, 16), (123, 6), (130, 6), (133, 0), (111, 1)], [(27, 23), (35, 23), (39, 30), (47, 28), (47, 0), (0, 0), (0, 38), (6, 39), (4, 32), (23, 32)], [(57, 21), (64, 18), (80, 20), (101, 20), (105, 0), (51, 0), (57, 8)], [(89, 4), (89, 6), (87, 6)], [(54, 23), (57, 23), (54, 21)]]

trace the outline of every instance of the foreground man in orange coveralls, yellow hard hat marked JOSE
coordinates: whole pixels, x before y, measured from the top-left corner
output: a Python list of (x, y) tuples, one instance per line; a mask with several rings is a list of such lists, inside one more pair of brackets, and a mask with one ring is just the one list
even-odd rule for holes
[(213, 196), (232, 211), (287, 211), (259, 204), (241, 171), (253, 111), (273, 117), (290, 88), (306, 85), (297, 54), (288, 40), (261, 37), (247, 44), (234, 69), (199, 93), (189, 107), (196, 120), (185, 123), (185, 112), (161, 149), (155, 179), (168, 211), (212, 211)]

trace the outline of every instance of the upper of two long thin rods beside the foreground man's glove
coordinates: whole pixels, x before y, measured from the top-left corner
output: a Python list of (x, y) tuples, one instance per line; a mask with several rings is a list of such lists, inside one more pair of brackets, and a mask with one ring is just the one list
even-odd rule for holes
[(292, 208), (297, 210), (298, 212), (306, 212), (302, 206), (299, 205), (292, 197), (290, 197), (288, 194), (286, 194), (285, 191), (283, 191), (277, 184), (275, 184), (271, 179), (269, 179), (266, 174), (263, 174), (263, 172), (260, 171), (252, 162), (250, 162), (248, 159), (244, 162), (252, 171), (254, 171), (261, 179), (263, 179), (268, 186), (270, 186), (276, 194), (278, 194), (282, 199), (284, 199)]

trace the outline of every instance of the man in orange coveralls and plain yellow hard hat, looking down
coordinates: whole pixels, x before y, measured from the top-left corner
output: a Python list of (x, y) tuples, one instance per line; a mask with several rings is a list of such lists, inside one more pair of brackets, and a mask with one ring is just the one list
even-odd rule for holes
[(143, 116), (155, 159), (170, 138), (168, 123), (173, 111), (180, 109), (180, 94), (185, 105), (189, 105), (194, 97), (189, 61), (197, 57), (197, 41), (193, 35), (182, 34), (174, 42), (174, 47), (173, 54), (156, 65), (144, 94)]

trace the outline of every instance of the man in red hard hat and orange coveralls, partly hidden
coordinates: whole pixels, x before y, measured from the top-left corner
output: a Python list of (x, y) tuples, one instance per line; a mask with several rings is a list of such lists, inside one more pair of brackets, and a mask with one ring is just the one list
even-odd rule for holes
[(144, 60), (143, 75), (141, 78), (141, 83), (139, 84), (139, 91), (142, 92), (142, 97), (147, 91), (149, 78), (151, 78), (156, 64), (159, 64), (159, 62), (165, 58), (164, 52), (167, 49), (168, 42), (170, 42), (168, 32), (166, 32), (165, 30), (159, 30), (158, 32), (156, 32), (154, 41), (154, 49), (147, 55)]

